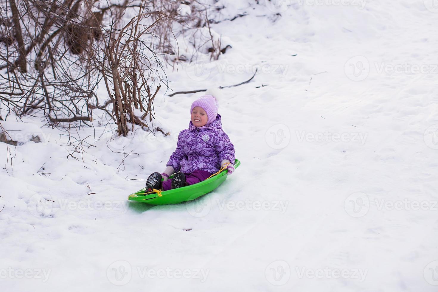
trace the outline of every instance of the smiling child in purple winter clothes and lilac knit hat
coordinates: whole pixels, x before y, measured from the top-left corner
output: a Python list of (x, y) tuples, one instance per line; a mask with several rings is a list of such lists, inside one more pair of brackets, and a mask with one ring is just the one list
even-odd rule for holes
[[(177, 149), (170, 155), (166, 169), (161, 174), (154, 172), (148, 177), (146, 192), (199, 183), (225, 165), (227, 175), (233, 173), (236, 155), (233, 143), (222, 130), (221, 116), (217, 113), (219, 91), (207, 91), (192, 103), (189, 128), (178, 135)], [(177, 174), (169, 179), (175, 172)]]

